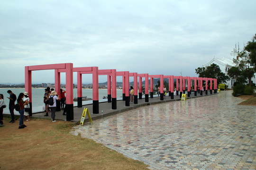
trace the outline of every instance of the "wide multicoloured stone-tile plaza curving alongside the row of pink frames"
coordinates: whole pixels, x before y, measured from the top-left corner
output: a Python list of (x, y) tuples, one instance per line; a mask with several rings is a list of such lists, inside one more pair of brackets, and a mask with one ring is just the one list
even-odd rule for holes
[(232, 91), (149, 105), (77, 126), (150, 170), (255, 170), (256, 106)]

